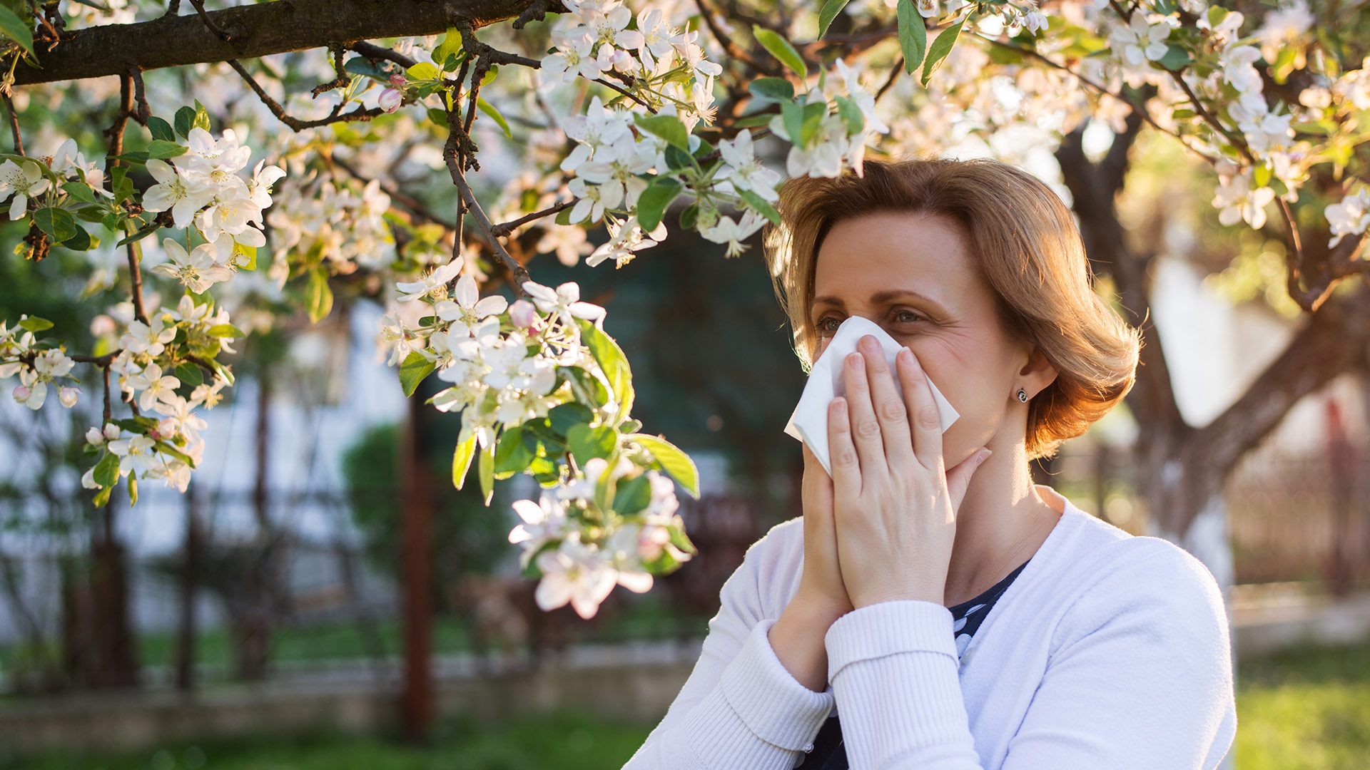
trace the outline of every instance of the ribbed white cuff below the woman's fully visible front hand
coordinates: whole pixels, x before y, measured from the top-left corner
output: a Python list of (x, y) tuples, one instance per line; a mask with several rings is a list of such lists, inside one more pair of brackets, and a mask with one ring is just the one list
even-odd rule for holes
[(936, 601), (899, 599), (867, 604), (847, 612), (827, 628), (827, 682), (858, 660), (896, 652), (945, 652), (956, 655), (951, 610)]

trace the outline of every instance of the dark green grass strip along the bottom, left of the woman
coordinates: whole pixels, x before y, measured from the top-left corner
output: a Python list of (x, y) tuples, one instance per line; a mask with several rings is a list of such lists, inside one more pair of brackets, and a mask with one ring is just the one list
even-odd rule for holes
[(51, 752), (3, 770), (604, 770), (622, 767), (649, 726), (612, 725), (560, 711), (503, 728), (470, 717), (445, 722), (426, 747), (392, 737), (319, 733), (169, 745), (125, 755)]

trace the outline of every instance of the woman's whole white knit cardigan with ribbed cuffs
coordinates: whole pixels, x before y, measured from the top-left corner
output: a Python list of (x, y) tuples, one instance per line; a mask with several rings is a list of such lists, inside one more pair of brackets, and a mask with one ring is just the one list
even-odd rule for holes
[(958, 658), (951, 611), (837, 619), (823, 692), (767, 633), (799, 588), (803, 518), (747, 551), (699, 662), (623, 770), (789, 770), (836, 710), (852, 770), (1211, 770), (1237, 733), (1228, 614), (1208, 569), (1052, 488), (1060, 521)]

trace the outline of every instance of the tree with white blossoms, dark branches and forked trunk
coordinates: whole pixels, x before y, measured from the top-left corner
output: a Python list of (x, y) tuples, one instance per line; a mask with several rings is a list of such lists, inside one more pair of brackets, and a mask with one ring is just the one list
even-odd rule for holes
[[(1141, 132), (1211, 166), (1223, 225), (1286, 245), (1288, 296), (1311, 332), (1277, 366), (1302, 375), (1273, 367), (1249, 401), (1195, 429), (1147, 326), (1129, 404), (1169, 537), (1295, 399), (1365, 358), (1370, 303), (1347, 281), (1370, 275), (1370, 37), (1356, 4), (190, 5), (0, 4), (14, 140), (0, 193), (27, 226), (15, 258), (89, 255), (100, 288), (126, 297), (93, 351), (68, 349), (42, 318), (0, 319), (0, 377), (18, 378), (18, 403), (103, 403), (82, 477), (95, 506), (121, 484), (134, 500), (140, 481), (184, 490), (204, 451), (200, 414), (233, 385), (233, 341), (282, 314), (323, 318), (349, 292), (388, 307), (377, 345), (404, 392), (436, 378), (432, 408), (460, 411), (453, 484), (474, 474), (489, 501), (497, 478), (540, 482), (510, 533), (540, 606), (590, 617), (615, 585), (648, 591), (693, 552), (675, 488), (697, 496), (699, 475), (640, 432), (604, 308), (575, 284), (537, 284), (530, 262), (622, 267), (675, 229), (736, 256), (778, 223), (786, 175), (860, 174), (867, 151), (1055, 148), (1096, 271), (1137, 323), (1147, 259), (1112, 200)], [(89, 86), (115, 81), (116, 95)], [(52, 107), (38, 107), (62, 99), (115, 103), (104, 147), (44, 122)], [(1097, 158), (1091, 126), (1111, 132)], [(445, 185), (429, 184), (434, 169)], [(145, 303), (149, 285), (174, 301)], [(1325, 352), (1314, 336), (1344, 355), (1312, 360)]]

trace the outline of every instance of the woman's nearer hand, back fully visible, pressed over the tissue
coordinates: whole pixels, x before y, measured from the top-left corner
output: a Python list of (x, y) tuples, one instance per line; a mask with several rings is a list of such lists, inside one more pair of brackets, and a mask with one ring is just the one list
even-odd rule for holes
[(897, 374), (874, 337), (863, 337), (858, 351), (843, 364), (847, 397), (833, 400), (827, 418), (843, 584), (854, 607), (897, 599), (941, 604), (956, 510), (989, 451), (947, 471), (937, 403), (912, 351), (900, 351)]

